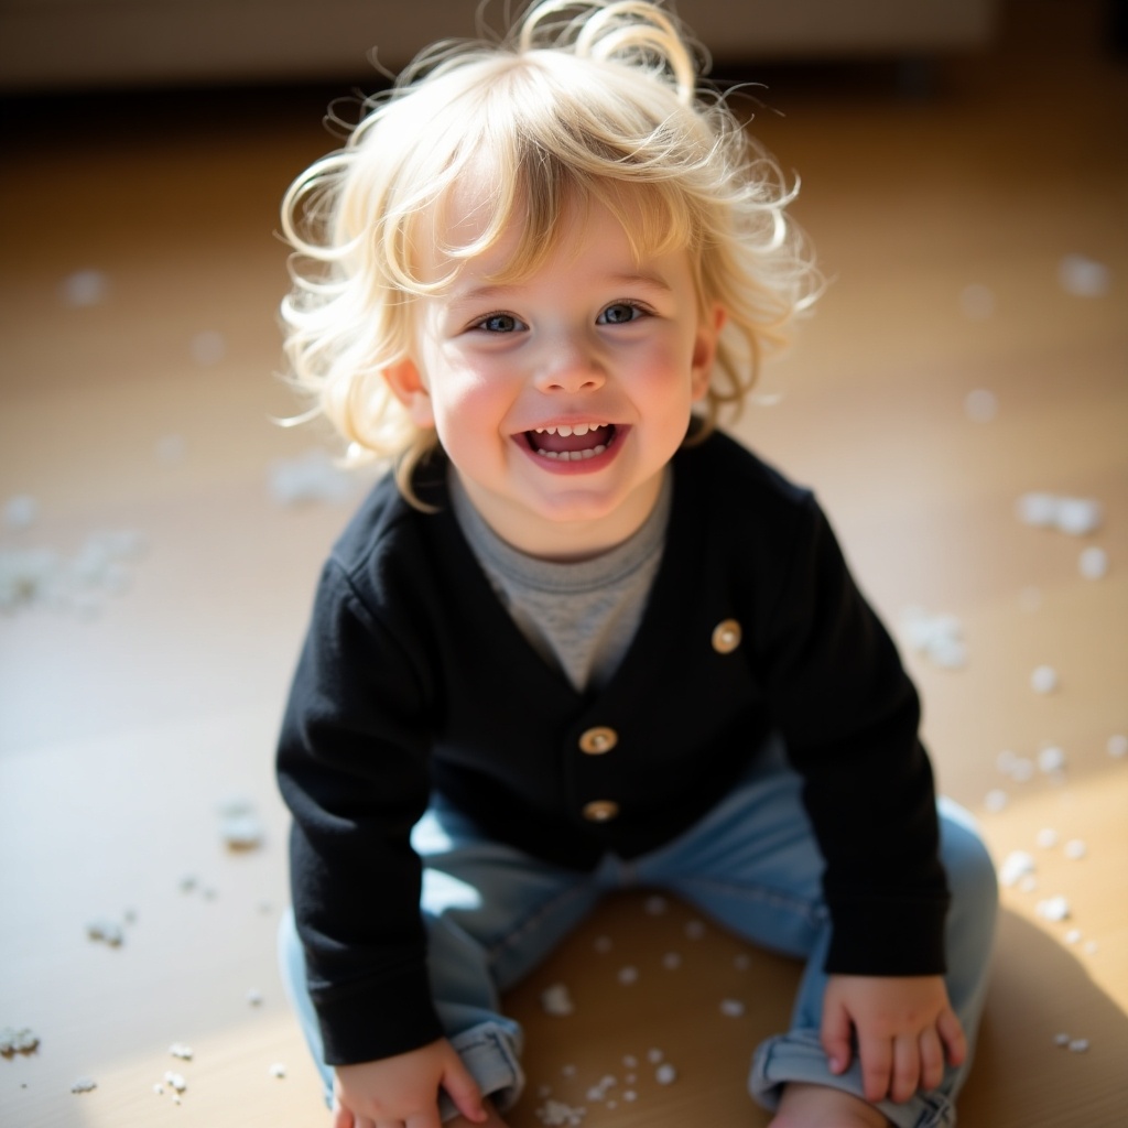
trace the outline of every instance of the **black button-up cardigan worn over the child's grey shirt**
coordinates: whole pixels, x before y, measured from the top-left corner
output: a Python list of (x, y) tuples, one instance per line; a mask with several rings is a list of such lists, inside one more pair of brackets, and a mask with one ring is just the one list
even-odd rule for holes
[[(611, 680), (531, 649), (459, 530), (434, 459), (385, 479), (323, 572), (279, 749), (291, 873), (331, 1065), (441, 1036), (408, 836), (432, 788), (488, 835), (593, 867), (710, 810), (772, 730), (804, 777), (834, 922), (829, 972), (944, 970), (946, 883), (919, 705), (812, 495), (714, 434), (675, 459), (659, 573)], [(713, 645), (735, 620), (740, 643)], [(728, 651), (728, 652), (725, 652)], [(607, 726), (607, 755), (581, 735)], [(591, 821), (592, 801), (617, 817)]]

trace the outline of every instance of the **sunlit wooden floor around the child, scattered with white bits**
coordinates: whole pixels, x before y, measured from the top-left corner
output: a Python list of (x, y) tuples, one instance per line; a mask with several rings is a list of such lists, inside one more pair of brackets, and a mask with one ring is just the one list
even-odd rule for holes
[[(968, 1128), (1113, 1128), (1128, 1108), (1128, 758), (1109, 751), (1128, 733), (1128, 68), (1102, 45), (1102, 10), (1014, 0), (997, 49), (945, 63), (924, 98), (883, 67), (773, 71), (756, 118), (803, 176), (797, 214), (835, 281), (766, 377), (779, 398), (740, 433), (817, 486), (898, 632), (914, 605), (962, 626), (960, 670), (899, 634), (928, 743), (999, 863), (1025, 851), (1037, 866), (1004, 890)], [(0, 575), (18, 552), (55, 552), (38, 572), (21, 557), (26, 594), (85, 562), (53, 606), (0, 614), (0, 1028), (39, 1039), (0, 1060), (6, 1128), (325, 1122), (274, 969), (272, 751), (349, 502), (283, 503), (281, 473), (318, 435), (270, 422), (291, 406), (272, 378), (276, 205), (329, 144), (325, 103), (6, 107)], [(1107, 284), (1091, 271), (1098, 292), (1064, 287), (1070, 255)], [(990, 420), (968, 415), (977, 389)], [(1103, 523), (1024, 525), (1030, 491), (1099, 500)], [(99, 530), (141, 550), (120, 538), (99, 557)], [(1078, 571), (1092, 546), (1102, 579)], [(1045, 695), (1042, 664), (1059, 676)], [(1064, 769), (1001, 770), (1003, 752), (1021, 772), (1047, 748)], [(222, 841), (232, 795), (265, 827), (257, 849)], [(1068, 919), (1039, 914), (1056, 896)], [(88, 938), (103, 918), (120, 946)], [(796, 969), (691, 919), (609, 902), (514, 993), (529, 1043), (515, 1128), (541, 1122), (547, 1092), (585, 1107), (587, 1128), (767, 1122), (744, 1075), (786, 1022)], [(573, 1015), (541, 1011), (554, 982)], [(656, 1083), (652, 1049), (675, 1084)], [(179, 1107), (167, 1083), (155, 1092), (167, 1070), (185, 1078)], [(72, 1094), (79, 1077), (97, 1087)]]

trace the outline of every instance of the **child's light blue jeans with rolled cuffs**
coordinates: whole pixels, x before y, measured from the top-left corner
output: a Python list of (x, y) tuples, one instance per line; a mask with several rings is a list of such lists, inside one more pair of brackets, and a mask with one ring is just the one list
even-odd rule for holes
[[(525, 1083), (521, 1030), (502, 1015), (501, 993), (559, 945), (606, 893), (641, 887), (668, 890), (752, 944), (805, 961), (791, 1030), (765, 1041), (752, 1059), (749, 1091), (760, 1104), (774, 1109), (788, 1082), (861, 1096), (856, 1057), (847, 1073), (836, 1076), (819, 1042), (830, 918), (820, 887), (822, 858), (800, 787), (782, 748), (769, 743), (740, 785), (679, 838), (629, 862), (607, 856), (592, 873), (548, 865), (484, 839), (458, 812), (433, 807), (413, 836), (426, 866), (422, 909), (432, 994), (448, 1038), (483, 1093), (504, 1111)], [(940, 816), (952, 891), (948, 992), (973, 1047), (995, 931), (995, 870), (967, 812), (941, 800)], [(332, 1070), (323, 1060), (301, 945), (289, 916), (280, 955), (287, 990), (331, 1093)], [(879, 1108), (898, 1128), (954, 1125), (954, 1099), (968, 1064), (949, 1068), (935, 1091)], [(442, 1114), (444, 1120), (455, 1114), (444, 1096)]]

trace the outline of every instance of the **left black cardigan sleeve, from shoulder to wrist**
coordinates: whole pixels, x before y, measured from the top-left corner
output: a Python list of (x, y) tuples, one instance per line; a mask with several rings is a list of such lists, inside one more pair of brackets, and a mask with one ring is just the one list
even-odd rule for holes
[(291, 884), (329, 1065), (441, 1037), (412, 827), (426, 809), (426, 693), (413, 662), (332, 562), (287, 705), (279, 782)]

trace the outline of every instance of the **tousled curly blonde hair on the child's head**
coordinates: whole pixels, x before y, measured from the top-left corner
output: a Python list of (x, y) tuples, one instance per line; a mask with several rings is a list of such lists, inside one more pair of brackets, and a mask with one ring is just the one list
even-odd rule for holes
[[(763, 355), (820, 283), (785, 210), (797, 183), (787, 186), (723, 97), (697, 89), (706, 64), (649, 0), (544, 0), (501, 39), (423, 52), (283, 201), (294, 252), (285, 354), (312, 399), (301, 418), (324, 414), (353, 459), (395, 459), (411, 496), (437, 439), (382, 373), (412, 352), (417, 299), (453, 277), (426, 280), (420, 248), (457, 272), (517, 229), (505, 271), (517, 279), (553, 253), (567, 208), (593, 201), (640, 256), (689, 252), (702, 310), (720, 303), (728, 315), (700, 430), (726, 405), (739, 412)], [(467, 173), (492, 185), (482, 233), (435, 247), (435, 215)]]

